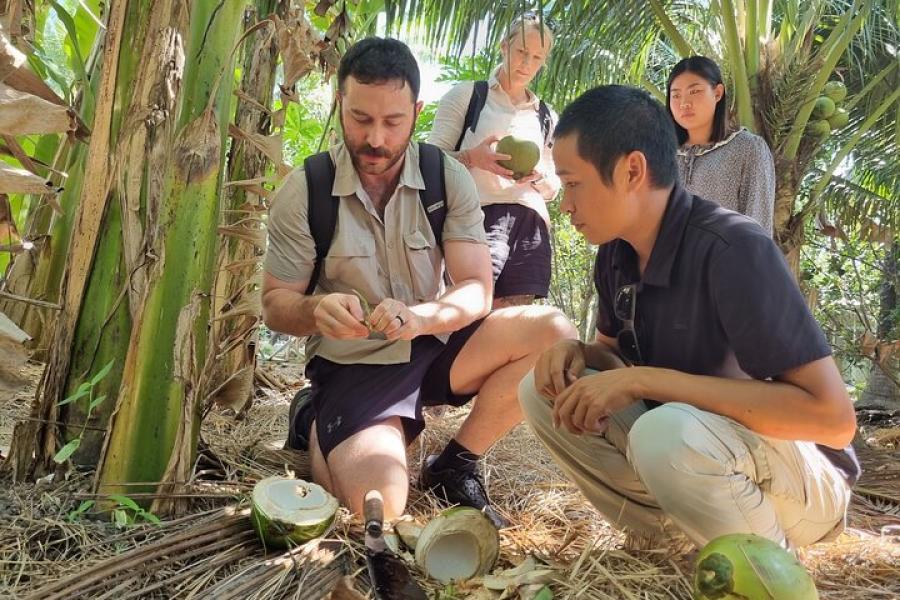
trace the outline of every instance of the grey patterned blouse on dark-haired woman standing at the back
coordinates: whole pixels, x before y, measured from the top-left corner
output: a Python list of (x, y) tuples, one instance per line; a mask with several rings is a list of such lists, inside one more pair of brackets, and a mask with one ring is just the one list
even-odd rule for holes
[(741, 128), (721, 142), (685, 144), (678, 171), (688, 191), (755, 219), (772, 235), (775, 162), (761, 137)]

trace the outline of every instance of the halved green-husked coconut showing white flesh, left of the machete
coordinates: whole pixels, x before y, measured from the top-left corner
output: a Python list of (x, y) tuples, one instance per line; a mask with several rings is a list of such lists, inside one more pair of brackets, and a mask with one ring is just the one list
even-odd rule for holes
[(267, 477), (253, 486), (250, 522), (266, 547), (287, 548), (324, 535), (337, 499), (315, 483)]

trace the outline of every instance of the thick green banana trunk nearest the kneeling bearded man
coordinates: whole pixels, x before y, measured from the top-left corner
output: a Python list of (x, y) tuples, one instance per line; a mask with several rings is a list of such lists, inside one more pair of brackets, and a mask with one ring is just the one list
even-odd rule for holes
[[(175, 4), (180, 4), (176, 2)], [(156, 262), (134, 311), (115, 413), (97, 475), (102, 494), (153, 492), (191, 473), (199, 432), (210, 292), (220, 213), (225, 135), (234, 77), (233, 48), (244, 2), (190, 5), (184, 87), (175, 144), (168, 152)], [(125, 483), (147, 486), (123, 486)], [(179, 484), (165, 484), (162, 495)], [(180, 504), (154, 502), (157, 512)]]

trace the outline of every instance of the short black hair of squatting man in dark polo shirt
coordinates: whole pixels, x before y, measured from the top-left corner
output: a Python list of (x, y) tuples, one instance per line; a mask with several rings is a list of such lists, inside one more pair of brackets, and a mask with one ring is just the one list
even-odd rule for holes
[(655, 187), (668, 187), (678, 177), (672, 119), (643, 90), (601, 85), (583, 93), (563, 111), (553, 135), (570, 133), (578, 134), (578, 154), (594, 165), (606, 184), (612, 183), (616, 161), (634, 151), (647, 159)]

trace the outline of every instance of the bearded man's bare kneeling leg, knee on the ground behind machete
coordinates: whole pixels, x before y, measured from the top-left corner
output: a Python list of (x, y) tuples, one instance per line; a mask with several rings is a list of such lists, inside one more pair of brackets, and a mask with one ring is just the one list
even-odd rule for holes
[(315, 480), (341, 504), (362, 514), (363, 496), (369, 490), (378, 490), (384, 496), (385, 519), (404, 513), (409, 478), (399, 417), (391, 417), (350, 436), (331, 451), (327, 461), (317, 440), (310, 447)]

